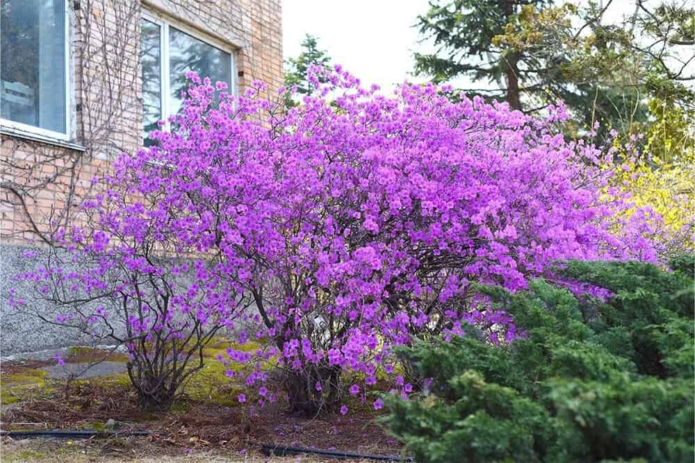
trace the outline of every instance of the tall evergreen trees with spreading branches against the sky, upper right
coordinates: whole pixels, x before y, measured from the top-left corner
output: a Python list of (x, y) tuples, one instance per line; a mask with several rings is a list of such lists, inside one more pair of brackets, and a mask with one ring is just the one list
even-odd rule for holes
[(634, 0), (616, 24), (606, 19), (611, 6), (617, 3), (432, 2), (417, 26), (436, 51), (416, 54), (416, 72), (435, 81), (466, 76), (489, 86), (469, 93), (525, 112), (562, 100), (578, 121), (575, 131), (600, 122), (600, 137), (611, 129), (626, 137), (648, 131), (664, 115), (650, 111), (650, 99), (659, 101), (651, 108), (678, 106), (691, 115), (695, 8), (685, 0)]

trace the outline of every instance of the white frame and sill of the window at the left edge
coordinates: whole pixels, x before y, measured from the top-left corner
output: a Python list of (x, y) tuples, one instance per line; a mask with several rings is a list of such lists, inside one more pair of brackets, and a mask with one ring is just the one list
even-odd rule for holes
[(65, 12), (65, 35), (63, 37), (65, 40), (65, 63), (63, 64), (65, 66), (65, 73), (63, 74), (63, 81), (65, 81), (65, 133), (51, 131), (47, 128), (40, 128), (29, 124), (22, 124), (21, 122), (15, 122), (0, 117), (0, 128), (3, 133), (17, 135), (19, 137), (28, 135), (28, 138), (38, 138), (40, 141), (45, 140), (47, 142), (54, 140), (68, 142), (72, 138), (72, 107), (70, 106), (72, 102), (72, 78), (70, 67), (72, 43), (70, 40), (71, 12), (69, 0), (63, 0), (63, 11)]

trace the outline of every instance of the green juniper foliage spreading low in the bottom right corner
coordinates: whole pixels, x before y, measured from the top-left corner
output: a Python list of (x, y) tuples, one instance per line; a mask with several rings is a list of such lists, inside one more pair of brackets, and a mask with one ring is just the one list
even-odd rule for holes
[(412, 348), (431, 392), (390, 396), (384, 420), (418, 462), (692, 462), (693, 262), (568, 262), (601, 303), (535, 280), (479, 287), (528, 337)]

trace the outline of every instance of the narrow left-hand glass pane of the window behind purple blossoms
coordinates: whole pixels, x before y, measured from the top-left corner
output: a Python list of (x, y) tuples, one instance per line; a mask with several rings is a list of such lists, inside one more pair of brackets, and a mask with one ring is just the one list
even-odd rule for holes
[(162, 119), (162, 51), (160, 27), (142, 19), (142, 112), (145, 146), (152, 144), (147, 135)]

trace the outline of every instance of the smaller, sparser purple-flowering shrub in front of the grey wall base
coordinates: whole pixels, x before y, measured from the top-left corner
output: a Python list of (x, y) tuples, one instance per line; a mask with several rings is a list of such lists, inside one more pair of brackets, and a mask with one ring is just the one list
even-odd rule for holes
[[(133, 185), (145, 179), (119, 166), (102, 180), (104, 193), (83, 203), (83, 226), (61, 230), (51, 249), (28, 251), (38, 264), (16, 277), (10, 306), (95, 346), (126, 348), (140, 402), (163, 409), (203, 367), (204, 346), (251, 300), (220, 258), (179, 239), (186, 219), (168, 214), (156, 194), (138, 194)], [(36, 310), (45, 303), (51, 310)]]

